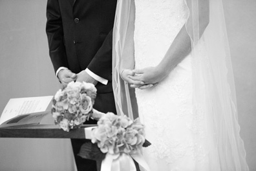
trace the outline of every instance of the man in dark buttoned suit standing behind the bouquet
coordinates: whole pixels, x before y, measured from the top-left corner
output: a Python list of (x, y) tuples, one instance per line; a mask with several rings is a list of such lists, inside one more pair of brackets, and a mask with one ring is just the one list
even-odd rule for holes
[[(48, 0), (50, 58), (63, 87), (74, 81), (96, 85), (94, 109), (116, 113), (112, 93), (112, 27), (116, 0)], [(96, 123), (89, 121), (87, 123)], [(85, 140), (71, 140), (78, 171), (96, 162), (77, 156)]]

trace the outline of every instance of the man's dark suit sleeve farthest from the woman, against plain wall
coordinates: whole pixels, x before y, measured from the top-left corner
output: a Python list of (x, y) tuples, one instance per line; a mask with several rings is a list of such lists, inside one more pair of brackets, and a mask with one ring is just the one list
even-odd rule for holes
[(52, 60), (55, 72), (59, 67), (68, 67), (67, 55), (63, 38), (63, 25), (59, 2), (56, 0), (47, 1), (47, 25), (49, 55)]

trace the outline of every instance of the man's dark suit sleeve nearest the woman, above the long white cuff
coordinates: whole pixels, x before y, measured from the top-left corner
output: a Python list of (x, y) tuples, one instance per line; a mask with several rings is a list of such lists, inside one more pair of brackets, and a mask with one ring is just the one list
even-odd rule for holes
[(112, 80), (112, 30), (87, 68), (102, 78)]

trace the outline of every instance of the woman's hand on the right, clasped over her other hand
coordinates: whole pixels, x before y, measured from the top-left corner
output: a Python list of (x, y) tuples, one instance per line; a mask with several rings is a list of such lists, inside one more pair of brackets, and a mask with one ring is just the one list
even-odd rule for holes
[(165, 76), (167, 76), (167, 72), (164, 69), (159, 69), (158, 67), (145, 67), (143, 69), (133, 69), (133, 75), (128, 75), (127, 77), (134, 82), (144, 82), (142, 86), (138, 84), (132, 84), (131, 87), (140, 87), (141, 89), (145, 89), (148, 87), (152, 87), (158, 82), (162, 81)]

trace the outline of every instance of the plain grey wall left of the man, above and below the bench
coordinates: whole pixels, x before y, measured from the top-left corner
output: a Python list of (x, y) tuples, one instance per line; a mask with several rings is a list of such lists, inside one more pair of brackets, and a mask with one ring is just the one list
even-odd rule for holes
[[(0, 0), (0, 113), (10, 98), (54, 95), (46, 0)], [(0, 138), (0, 170), (74, 170), (70, 140)]]

